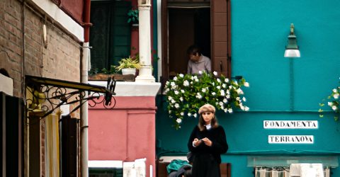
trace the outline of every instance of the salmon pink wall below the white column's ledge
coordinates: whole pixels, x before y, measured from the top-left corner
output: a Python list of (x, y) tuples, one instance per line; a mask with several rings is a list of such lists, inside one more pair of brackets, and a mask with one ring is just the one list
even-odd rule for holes
[(155, 174), (154, 96), (117, 96), (115, 108), (89, 107), (89, 160), (147, 158)]

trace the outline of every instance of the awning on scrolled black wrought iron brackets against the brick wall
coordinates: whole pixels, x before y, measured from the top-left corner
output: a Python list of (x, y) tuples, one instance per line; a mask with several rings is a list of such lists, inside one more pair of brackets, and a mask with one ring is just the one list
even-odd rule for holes
[(108, 78), (107, 87), (28, 75), (25, 80), (26, 108), (28, 113), (40, 118), (45, 118), (61, 105), (73, 103), (79, 104), (70, 113), (86, 102), (91, 107), (98, 104), (108, 109), (115, 107), (116, 81), (112, 77)]

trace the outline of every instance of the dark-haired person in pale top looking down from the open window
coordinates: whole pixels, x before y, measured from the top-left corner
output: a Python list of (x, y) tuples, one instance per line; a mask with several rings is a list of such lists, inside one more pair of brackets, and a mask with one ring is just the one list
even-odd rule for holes
[(202, 55), (198, 45), (191, 45), (186, 50), (188, 62), (188, 74), (198, 74), (198, 72), (211, 72), (211, 61), (208, 57)]

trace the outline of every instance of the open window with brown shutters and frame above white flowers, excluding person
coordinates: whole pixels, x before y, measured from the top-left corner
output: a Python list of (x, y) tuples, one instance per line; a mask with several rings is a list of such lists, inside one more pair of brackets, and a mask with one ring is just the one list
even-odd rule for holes
[(162, 1), (162, 81), (186, 73), (193, 43), (210, 57), (212, 71), (230, 77), (230, 0)]

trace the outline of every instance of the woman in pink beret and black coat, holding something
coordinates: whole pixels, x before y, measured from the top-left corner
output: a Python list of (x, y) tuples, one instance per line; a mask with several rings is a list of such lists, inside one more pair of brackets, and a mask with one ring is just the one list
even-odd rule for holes
[(225, 130), (218, 125), (215, 107), (205, 104), (198, 110), (200, 118), (188, 140), (193, 154), (193, 177), (220, 177), (221, 154), (227, 152)]

